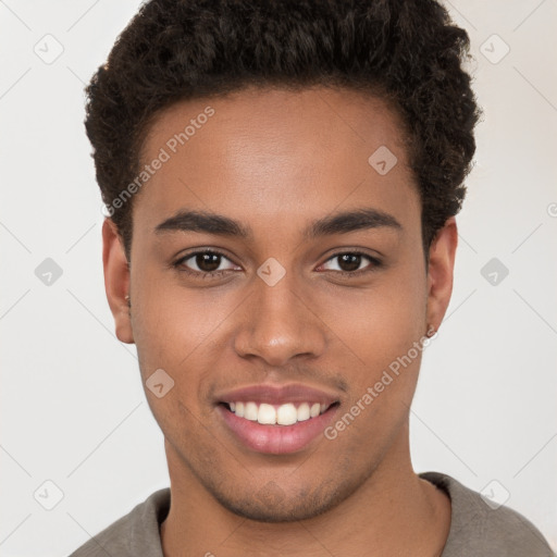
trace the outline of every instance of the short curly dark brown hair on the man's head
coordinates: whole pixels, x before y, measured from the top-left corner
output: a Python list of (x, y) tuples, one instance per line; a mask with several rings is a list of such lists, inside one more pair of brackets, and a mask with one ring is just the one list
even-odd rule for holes
[[(247, 86), (344, 87), (403, 117), (425, 253), (458, 213), (481, 110), (469, 37), (434, 0), (151, 0), (86, 87), (97, 182), (129, 260), (132, 202), (149, 126), (172, 103)], [(117, 207), (117, 209), (116, 209)]]

